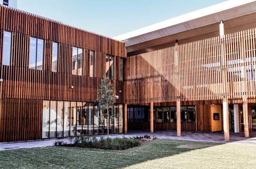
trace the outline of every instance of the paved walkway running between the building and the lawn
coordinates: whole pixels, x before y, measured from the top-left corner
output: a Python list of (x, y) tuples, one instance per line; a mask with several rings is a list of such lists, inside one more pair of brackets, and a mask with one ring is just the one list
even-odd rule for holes
[[(128, 134), (110, 135), (109, 137), (111, 138), (135, 137), (135, 136), (144, 136), (146, 134), (148, 134), (151, 137), (157, 137), (158, 139), (225, 142), (222, 132), (217, 132), (217, 133), (182, 132), (182, 136), (177, 137), (176, 132), (173, 132), (173, 131), (156, 131), (155, 133), (134, 131), (134, 132), (129, 132)], [(244, 138), (243, 133), (230, 133), (230, 142), (256, 146), (256, 133), (250, 133), (250, 135), (251, 135), (250, 138)], [(107, 136), (104, 136), (104, 137), (107, 137)], [(68, 139), (51, 139), (51, 140), (40, 140), (40, 141), (0, 143), (0, 151), (20, 149), (20, 148), (53, 146), (56, 140), (67, 141), (67, 142), (69, 141)]]

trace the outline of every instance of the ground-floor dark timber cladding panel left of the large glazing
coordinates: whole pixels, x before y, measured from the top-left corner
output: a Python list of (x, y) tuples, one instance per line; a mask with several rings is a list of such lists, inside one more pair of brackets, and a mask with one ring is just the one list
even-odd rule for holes
[(40, 100), (1, 99), (0, 104), (0, 142), (41, 139)]

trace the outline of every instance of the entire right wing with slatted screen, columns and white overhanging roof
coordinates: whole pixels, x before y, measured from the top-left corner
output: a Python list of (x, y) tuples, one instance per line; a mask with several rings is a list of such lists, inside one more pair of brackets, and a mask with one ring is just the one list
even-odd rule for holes
[(127, 130), (223, 131), (226, 141), (256, 131), (255, 5), (227, 1), (115, 37), (127, 50)]

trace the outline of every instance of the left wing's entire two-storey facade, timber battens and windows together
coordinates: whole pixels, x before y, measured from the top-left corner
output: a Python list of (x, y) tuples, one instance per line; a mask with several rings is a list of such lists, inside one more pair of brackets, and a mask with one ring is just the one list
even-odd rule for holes
[[(0, 6), (0, 142), (123, 132), (124, 43)], [(94, 105), (114, 84), (110, 124)]]

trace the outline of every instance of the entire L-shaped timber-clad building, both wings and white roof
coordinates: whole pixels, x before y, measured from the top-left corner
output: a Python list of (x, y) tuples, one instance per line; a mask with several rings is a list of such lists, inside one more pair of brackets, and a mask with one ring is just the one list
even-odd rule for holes
[[(111, 38), (0, 6), (0, 142), (130, 130), (256, 131), (256, 3)], [(221, 20), (225, 20), (224, 22)], [(119, 41), (124, 40), (124, 41)], [(114, 85), (108, 123), (97, 104)]]

